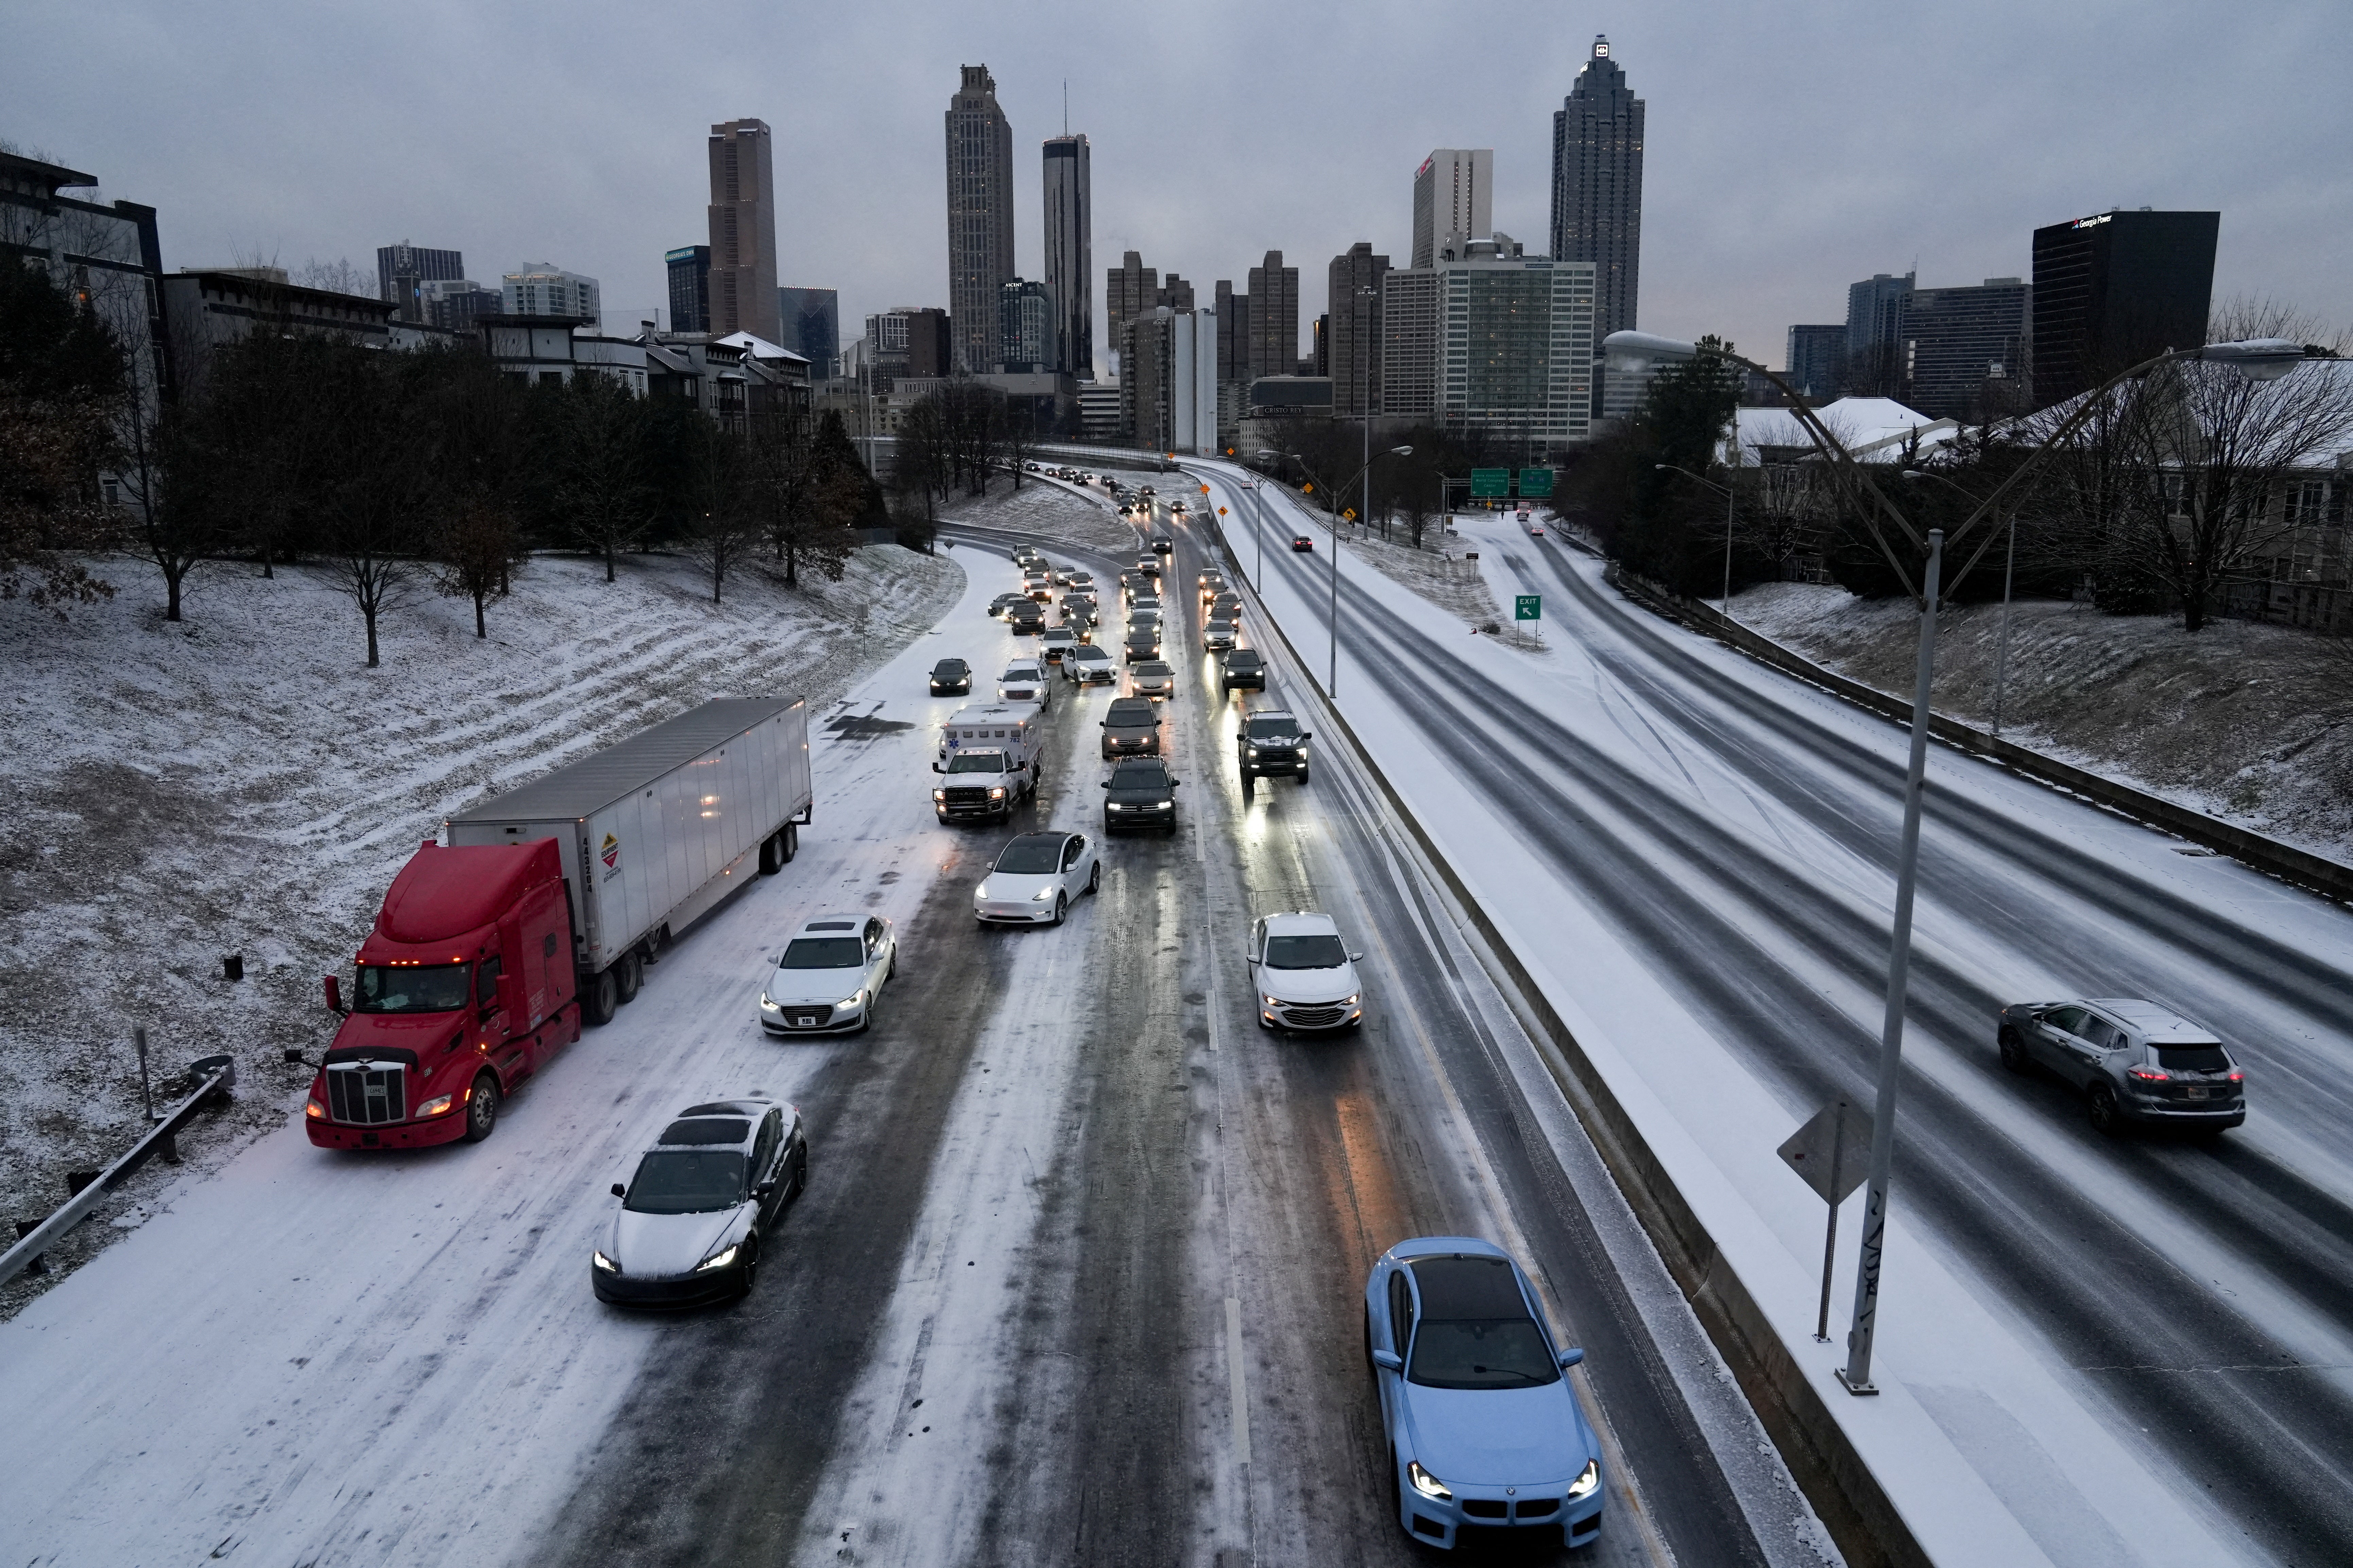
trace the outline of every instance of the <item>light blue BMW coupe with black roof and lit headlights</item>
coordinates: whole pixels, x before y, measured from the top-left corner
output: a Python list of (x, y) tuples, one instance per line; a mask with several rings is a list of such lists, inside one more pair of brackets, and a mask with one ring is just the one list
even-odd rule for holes
[(1365, 1281), (1398, 1526), (1433, 1547), (1494, 1530), (1600, 1540), (1600, 1443), (1527, 1274), (1492, 1241), (1400, 1241)]

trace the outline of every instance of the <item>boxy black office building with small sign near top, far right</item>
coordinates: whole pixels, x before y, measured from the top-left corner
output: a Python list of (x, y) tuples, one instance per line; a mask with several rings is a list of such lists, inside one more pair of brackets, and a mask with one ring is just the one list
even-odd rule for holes
[(2205, 343), (2219, 212), (2097, 212), (2035, 230), (2035, 407)]

